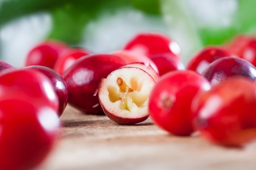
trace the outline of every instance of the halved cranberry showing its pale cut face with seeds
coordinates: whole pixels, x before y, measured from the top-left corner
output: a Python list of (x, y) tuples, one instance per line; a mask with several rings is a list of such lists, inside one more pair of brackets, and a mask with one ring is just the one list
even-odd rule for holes
[(148, 97), (154, 85), (155, 80), (146, 71), (126, 66), (103, 78), (96, 93), (101, 108), (112, 121), (137, 124), (148, 118)]

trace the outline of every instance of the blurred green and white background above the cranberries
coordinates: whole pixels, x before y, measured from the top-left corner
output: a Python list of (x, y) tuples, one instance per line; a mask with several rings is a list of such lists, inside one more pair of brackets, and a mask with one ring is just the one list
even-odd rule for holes
[(103, 53), (160, 31), (180, 44), (186, 63), (203, 46), (256, 33), (255, 7), (255, 0), (0, 0), (0, 59), (22, 67), (46, 38)]

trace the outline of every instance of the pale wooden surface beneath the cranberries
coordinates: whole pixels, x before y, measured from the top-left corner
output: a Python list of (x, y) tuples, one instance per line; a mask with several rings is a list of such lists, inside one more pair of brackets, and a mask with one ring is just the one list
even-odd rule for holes
[(256, 170), (256, 142), (224, 148), (176, 137), (150, 119), (122, 126), (67, 106), (56, 147), (39, 170)]

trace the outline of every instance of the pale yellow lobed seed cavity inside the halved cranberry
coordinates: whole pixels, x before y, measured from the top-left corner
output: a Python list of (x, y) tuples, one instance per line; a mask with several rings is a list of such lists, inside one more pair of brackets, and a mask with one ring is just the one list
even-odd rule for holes
[(132, 107), (142, 107), (148, 98), (148, 94), (140, 94), (143, 83), (136, 77), (130, 78), (130, 86), (121, 77), (116, 81), (116, 86), (108, 86), (108, 97), (111, 102), (120, 101), (119, 108), (131, 110)]

